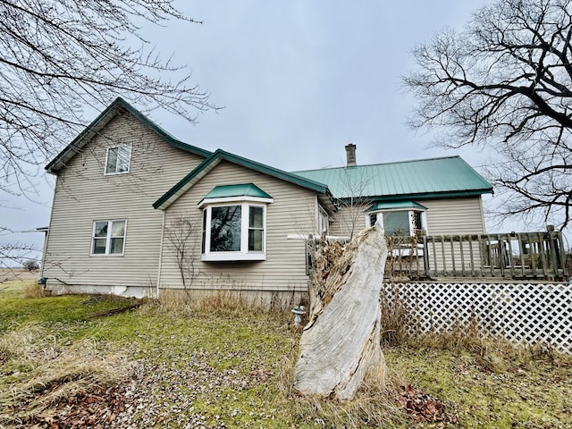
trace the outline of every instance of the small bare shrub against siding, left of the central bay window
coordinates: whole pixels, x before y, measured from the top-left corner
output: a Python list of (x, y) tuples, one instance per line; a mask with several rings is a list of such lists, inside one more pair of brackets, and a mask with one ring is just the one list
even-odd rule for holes
[(181, 214), (172, 218), (165, 229), (165, 238), (179, 268), (182, 287), (189, 294), (189, 288), (198, 275), (195, 253), (199, 240), (197, 226), (189, 215)]

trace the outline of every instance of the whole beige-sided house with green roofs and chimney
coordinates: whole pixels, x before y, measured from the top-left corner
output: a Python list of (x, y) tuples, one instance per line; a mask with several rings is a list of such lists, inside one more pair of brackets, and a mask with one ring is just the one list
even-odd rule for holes
[(118, 98), (46, 165), (46, 290), (299, 299), (309, 234), (484, 232), (492, 187), (462, 159), (361, 166), (347, 150), (345, 167), (284, 172), (188, 145)]

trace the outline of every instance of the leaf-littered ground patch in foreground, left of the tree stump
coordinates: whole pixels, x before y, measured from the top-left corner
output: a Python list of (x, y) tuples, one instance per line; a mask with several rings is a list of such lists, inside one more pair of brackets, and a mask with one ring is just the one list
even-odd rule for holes
[[(206, 351), (188, 355), (177, 363), (154, 363), (139, 359), (122, 383), (86, 396), (68, 398), (46, 409), (39, 416), (24, 419), (14, 427), (32, 428), (224, 428), (225, 421), (238, 416), (259, 422), (273, 416), (255, 415), (256, 404), (248, 409), (221, 406), (242, 404), (236, 395), (264, 384), (271, 373), (263, 367), (215, 369), (207, 362), (213, 356)], [(246, 371), (243, 371), (245, 370)], [(234, 398), (231, 395), (235, 395)], [(218, 415), (196, 409), (216, 405)], [(248, 416), (244, 416), (244, 414)]]

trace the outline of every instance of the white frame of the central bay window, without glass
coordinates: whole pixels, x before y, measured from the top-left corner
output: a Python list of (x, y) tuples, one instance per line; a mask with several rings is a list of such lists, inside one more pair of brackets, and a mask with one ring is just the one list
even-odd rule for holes
[[(201, 216), (204, 220), (202, 228), (203, 242), (201, 243), (201, 261), (215, 262), (215, 261), (265, 261), (266, 260), (266, 213), (267, 206), (272, 203), (272, 198), (257, 198), (257, 197), (242, 197), (242, 198), (209, 198), (204, 199), (198, 205), (198, 208), (203, 209)], [(211, 251), (211, 231), (210, 225), (212, 221), (213, 207), (223, 206), (240, 206), (240, 250), (236, 251)], [(262, 250), (248, 250), (248, 225), (250, 207), (262, 208)], [(206, 214), (206, 215), (205, 215)], [(203, 217), (204, 216), (204, 217)]]

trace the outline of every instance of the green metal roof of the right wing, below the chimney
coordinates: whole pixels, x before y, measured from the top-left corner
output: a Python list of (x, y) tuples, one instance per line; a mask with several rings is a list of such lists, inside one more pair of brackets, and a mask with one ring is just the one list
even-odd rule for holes
[[(376, 201), (468, 197), (492, 193), (492, 185), (459, 156), (296, 172), (327, 184), (334, 198)], [(352, 195), (353, 193), (353, 195)]]

